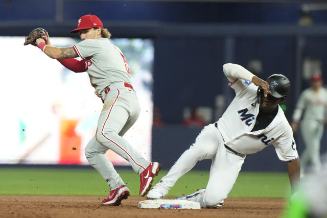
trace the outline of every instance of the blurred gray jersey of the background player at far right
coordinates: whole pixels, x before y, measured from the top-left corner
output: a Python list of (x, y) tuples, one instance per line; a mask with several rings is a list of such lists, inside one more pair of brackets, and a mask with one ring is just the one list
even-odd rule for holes
[(316, 93), (312, 88), (308, 88), (300, 95), (293, 113), (293, 120), (298, 122), (303, 110), (305, 110), (303, 120), (316, 120), (323, 123), (325, 120), (326, 106), (327, 89), (321, 87)]

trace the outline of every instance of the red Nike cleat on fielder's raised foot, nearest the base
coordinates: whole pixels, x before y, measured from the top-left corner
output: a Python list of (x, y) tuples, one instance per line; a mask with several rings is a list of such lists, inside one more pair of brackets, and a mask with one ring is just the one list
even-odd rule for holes
[(158, 175), (162, 164), (151, 162), (150, 165), (139, 175), (141, 184), (139, 185), (139, 195), (145, 196), (152, 185), (153, 178)]

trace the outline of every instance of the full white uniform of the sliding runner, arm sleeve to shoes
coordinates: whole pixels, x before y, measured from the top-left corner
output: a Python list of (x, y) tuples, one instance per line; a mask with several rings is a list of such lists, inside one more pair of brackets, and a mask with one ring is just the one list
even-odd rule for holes
[[(240, 65), (226, 64), (223, 69), (229, 81), (232, 78), (253, 77)], [(281, 107), (278, 106), (276, 116), (265, 129), (251, 132), (259, 114), (260, 105), (256, 104), (258, 87), (243, 79), (229, 85), (235, 89), (236, 96), (218, 120), (217, 126), (209, 124), (203, 128), (192, 146), (150, 190), (148, 198), (164, 197), (176, 181), (198, 161), (211, 159), (205, 191), (201, 194), (195, 192), (186, 199), (199, 202), (201, 207), (217, 207), (227, 198), (235, 184), (246, 154), (256, 153), (273, 144), (280, 160), (291, 161), (298, 158), (292, 129)], [(226, 146), (243, 155), (236, 154)]]

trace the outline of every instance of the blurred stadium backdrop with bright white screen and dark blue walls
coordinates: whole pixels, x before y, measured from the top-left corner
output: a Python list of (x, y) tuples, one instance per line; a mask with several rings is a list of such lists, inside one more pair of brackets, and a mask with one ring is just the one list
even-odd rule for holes
[[(237, 63), (266, 79), (291, 80), (284, 102), (291, 115), (310, 76), (327, 81), (327, 4), (323, 1), (4, 0), (0, 3), (2, 107), (0, 167), (88, 167), (84, 147), (95, 132), (101, 101), (87, 74), (75, 75), (41, 51), (24, 46), (37, 27), (53, 44), (79, 41), (77, 20), (95, 14), (121, 47), (142, 101), (142, 116), (126, 136), (147, 158), (172, 166), (201, 127), (185, 126), (192, 107), (215, 122), (233, 98), (222, 65)], [(161, 122), (153, 124), (155, 119)], [(156, 120), (157, 121), (157, 120)], [(327, 151), (322, 139), (321, 153)], [(299, 154), (300, 134), (295, 135)], [(114, 156), (115, 165), (126, 162)], [(196, 169), (209, 169), (201, 161)], [(284, 172), (273, 148), (248, 155), (242, 171)]]

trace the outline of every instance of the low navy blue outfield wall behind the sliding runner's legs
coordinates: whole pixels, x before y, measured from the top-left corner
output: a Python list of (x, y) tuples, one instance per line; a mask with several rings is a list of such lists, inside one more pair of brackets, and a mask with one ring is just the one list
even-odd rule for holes
[[(162, 163), (162, 168), (169, 169), (179, 156), (188, 149), (201, 132), (202, 128), (188, 128), (181, 125), (166, 125), (164, 127), (153, 127), (152, 138), (152, 160)], [(300, 134), (295, 135), (297, 151), (299, 155), (303, 152), (304, 144)], [(327, 152), (325, 141), (326, 131), (321, 140), (321, 154)], [(209, 170), (211, 160), (199, 161), (194, 169)], [(241, 171), (287, 171), (286, 162), (279, 161), (273, 146), (258, 152), (248, 154), (245, 158)]]

